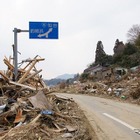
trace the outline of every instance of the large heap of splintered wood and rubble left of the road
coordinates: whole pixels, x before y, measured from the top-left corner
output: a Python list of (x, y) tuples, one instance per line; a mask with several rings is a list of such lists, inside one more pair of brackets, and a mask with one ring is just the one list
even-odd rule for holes
[(0, 140), (92, 139), (77, 104), (50, 94), (35, 67), (44, 59), (23, 61), (28, 64), (18, 69), (16, 81), (10, 60), (4, 59), (7, 71), (0, 71)]

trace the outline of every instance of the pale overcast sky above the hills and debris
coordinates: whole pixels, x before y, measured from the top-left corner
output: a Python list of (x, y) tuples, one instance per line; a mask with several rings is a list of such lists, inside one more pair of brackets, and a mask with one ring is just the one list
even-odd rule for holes
[(12, 55), (14, 27), (29, 29), (30, 21), (58, 22), (58, 40), (29, 39), (18, 34), (18, 61), (36, 55), (44, 79), (64, 73), (81, 73), (95, 59), (97, 42), (113, 54), (115, 40), (126, 43), (127, 32), (140, 24), (140, 0), (1, 0), (0, 69), (7, 69), (4, 56)]

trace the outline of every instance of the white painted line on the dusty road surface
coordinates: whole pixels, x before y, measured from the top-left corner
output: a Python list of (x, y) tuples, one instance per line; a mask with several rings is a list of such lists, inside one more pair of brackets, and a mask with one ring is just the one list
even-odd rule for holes
[(113, 116), (111, 116), (111, 115), (109, 115), (109, 114), (107, 114), (107, 113), (103, 113), (103, 115), (105, 115), (105, 116), (111, 118), (111, 119), (114, 120), (114, 121), (117, 121), (117, 122), (121, 123), (122, 125), (128, 127), (128, 128), (131, 129), (131, 130), (136, 130), (135, 127), (133, 127), (133, 126), (129, 125), (128, 123), (126, 123), (126, 122), (124, 122), (124, 121), (121, 121), (120, 119), (117, 119), (117, 118), (115, 118), (115, 117), (113, 117)]

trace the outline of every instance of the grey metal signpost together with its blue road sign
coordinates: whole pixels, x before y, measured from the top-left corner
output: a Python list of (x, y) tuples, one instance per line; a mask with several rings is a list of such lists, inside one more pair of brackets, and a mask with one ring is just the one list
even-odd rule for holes
[(30, 39), (58, 39), (58, 22), (29, 22), (29, 30), (21, 30), (14, 28), (14, 80), (17, 81), (18, 76), (18, 49), (17, 34), (21, 32), (29, 32)]

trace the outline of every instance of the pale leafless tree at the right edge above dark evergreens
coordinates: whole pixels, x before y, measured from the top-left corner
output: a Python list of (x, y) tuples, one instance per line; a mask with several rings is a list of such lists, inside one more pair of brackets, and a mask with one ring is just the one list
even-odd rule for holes
[(128, 30), (128, 42), (135, 44), (140, 36), (140, 25), (135, 24)]

